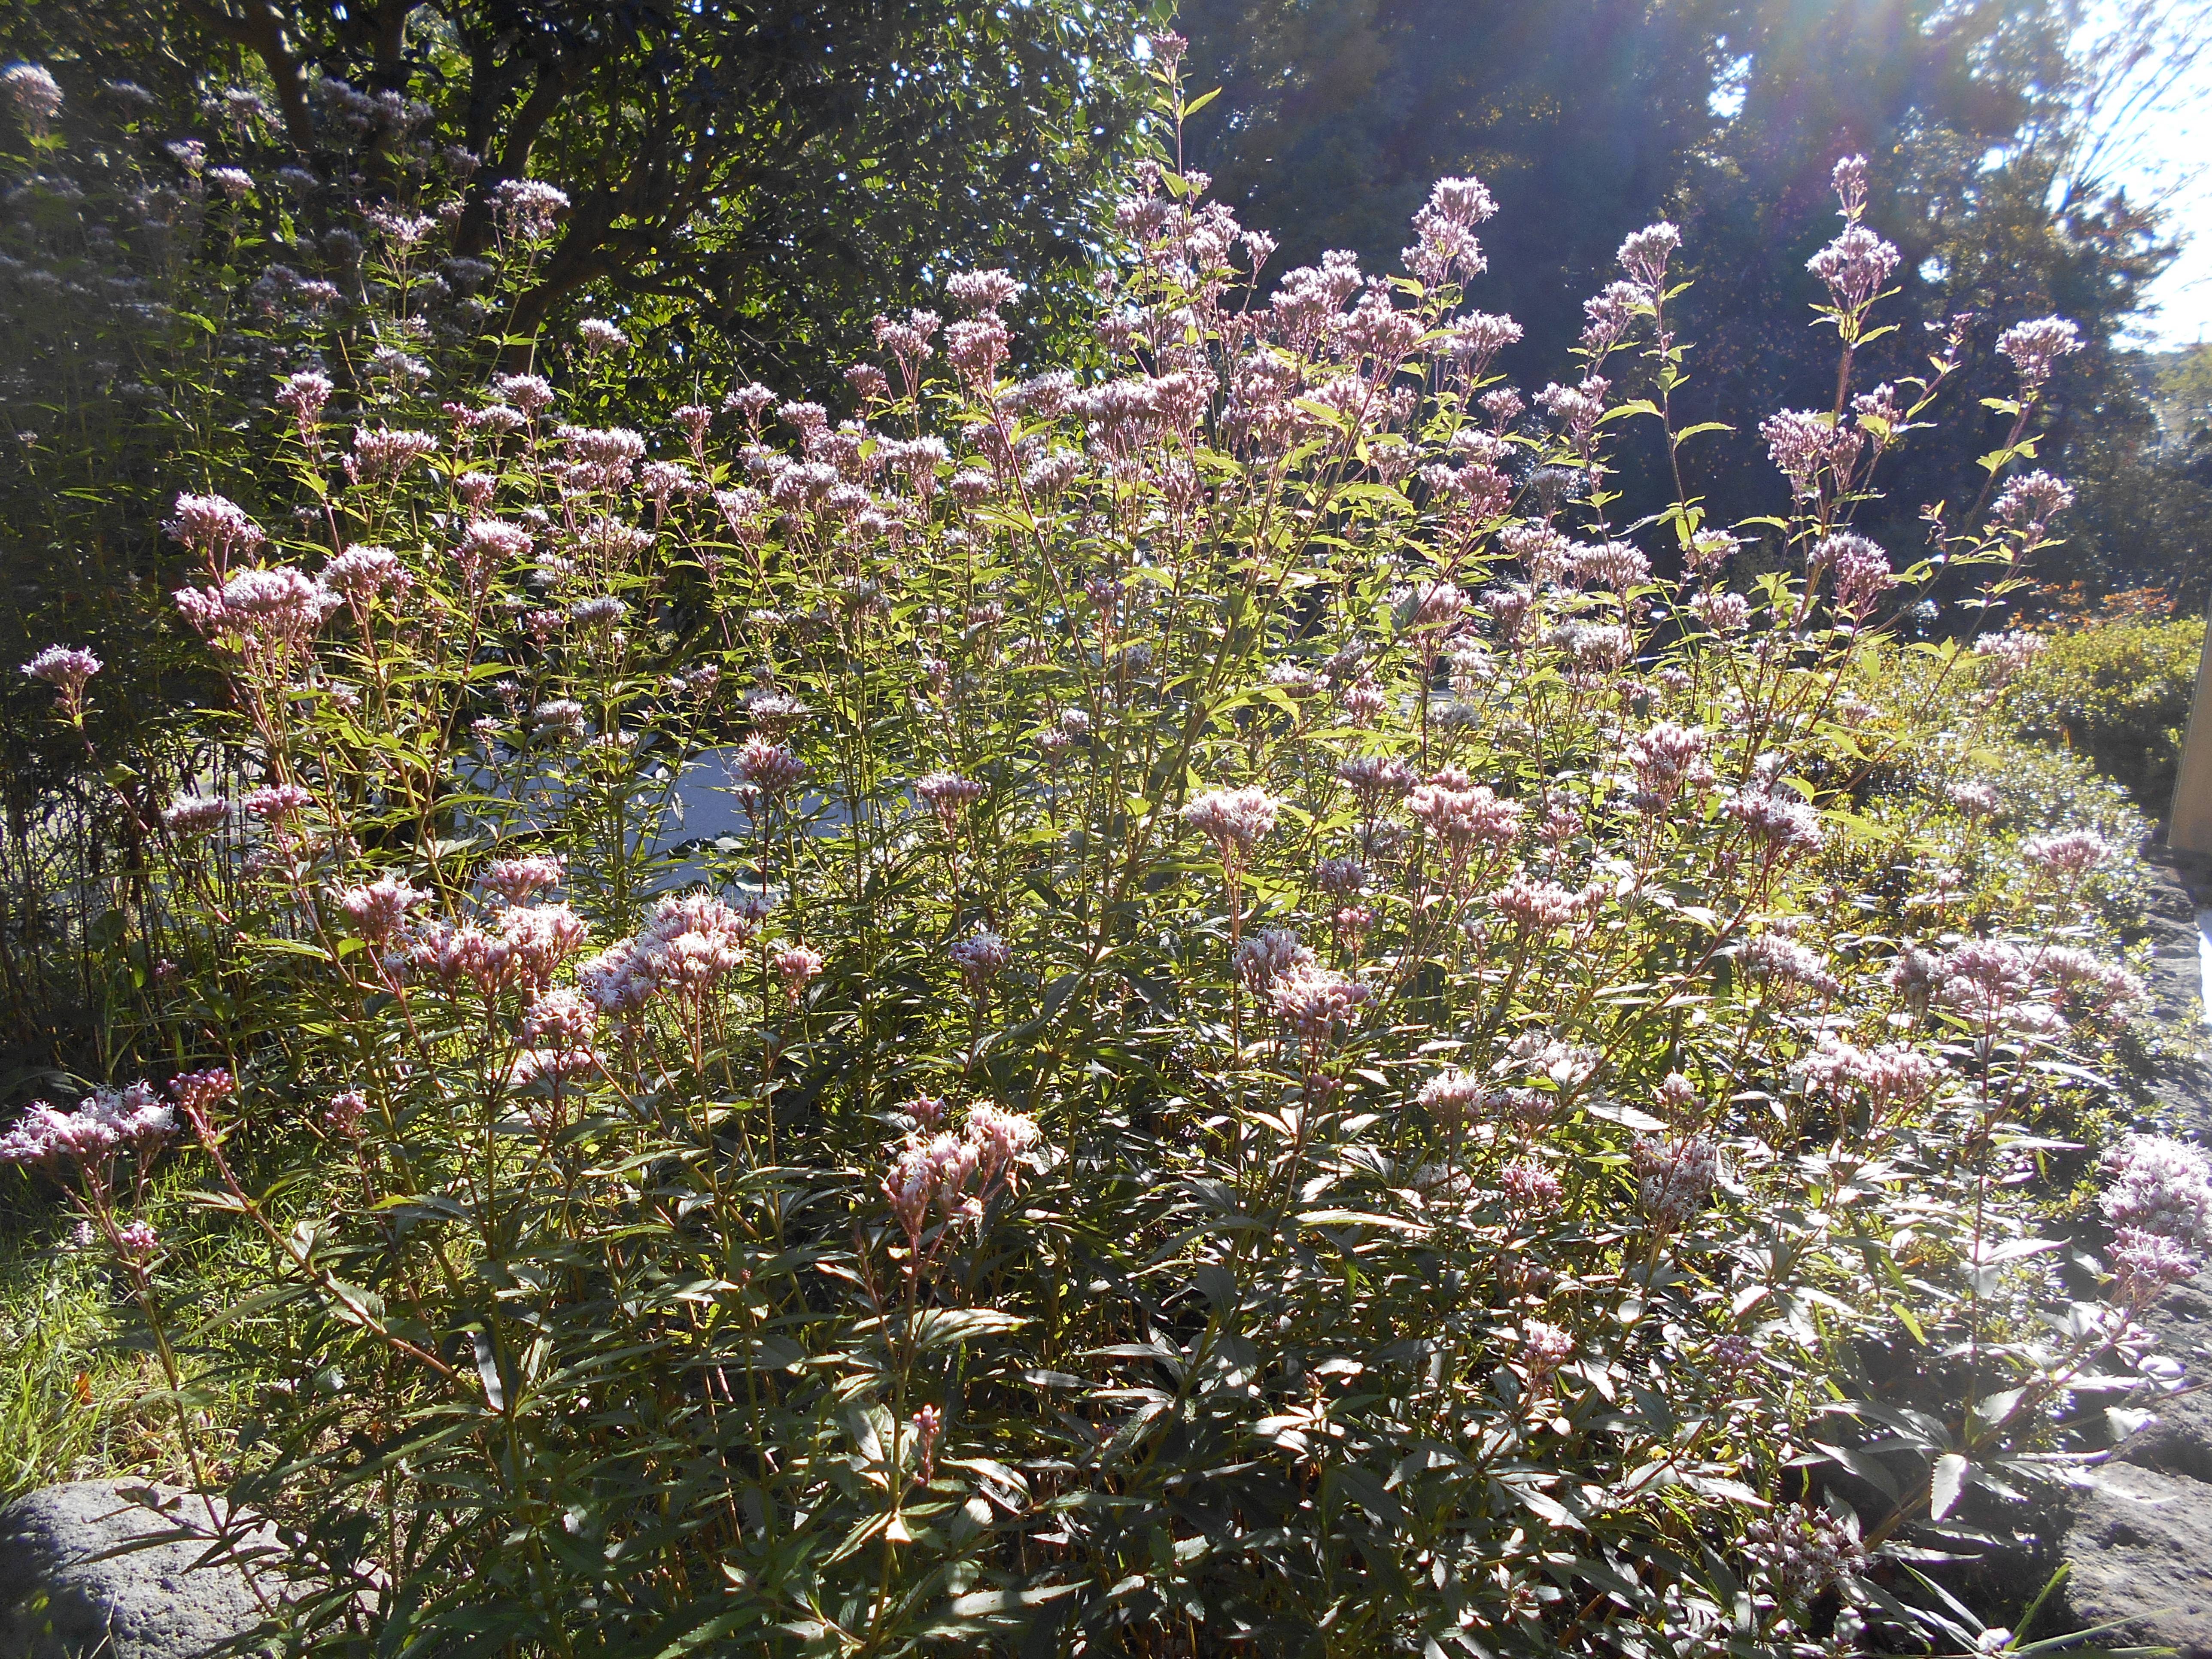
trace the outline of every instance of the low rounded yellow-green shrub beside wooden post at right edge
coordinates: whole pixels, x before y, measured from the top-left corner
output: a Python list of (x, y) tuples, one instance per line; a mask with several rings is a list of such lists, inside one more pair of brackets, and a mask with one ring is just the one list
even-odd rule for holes
[(2117, 617), (2059, 628), (2013, 681), (2006, 712), (2022, 734), (2088, 757), (2163, 818), (2203, 655), (2201, 617)]

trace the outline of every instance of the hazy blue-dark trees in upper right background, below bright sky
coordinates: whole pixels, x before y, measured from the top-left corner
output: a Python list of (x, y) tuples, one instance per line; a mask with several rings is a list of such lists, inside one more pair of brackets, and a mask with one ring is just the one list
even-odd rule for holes
[[(2157, 217), (2106, 188), (2095, 153), (2101, 75), (2068, 42), (2070, 0), (1188, 0), (1190, 75), (1223, 88), (1190, 161), (1250, 223), (1281, 226), (1283, 261), (1352, 248), (1396, 270), (1427, 181), (1480, 173), (1500, 212), (1473, 303), (1526, 338), (1502, 367), (1562, 376), (1579, 301), (1619, 272), (1621, 237), (1657, 215), (1686, 232), (1694, 341), (1686, 418), (1732, 436), (1688, 453), (1717, 515), (1763, 511), (1772, 469), (1752, 429), (1778, 407), (1825, 409), (1834, 369), (1805, 310), (1805, 259), (1836, 230), (1829, 166), (1865, 153), (1869, 219), (1898, 243), (1902, 327), (1863, 358), (1867, 383), (1924, 365), (1927, 325), (1975, 312), (1953, 396), (2011, 392), (2000, 327), (2064, 314), (2088, 349), (2055, 387), (2044, 460), (2073, 476), (2073, 542), (2046, 566), (2093, 588), (2205, 586), (2201, 482), (2146, 398), (2119, 334), (2170, 259)], [(2126, 7), (2135, 40), (2174, 7)], [(2201, 11), (2197, 7), (2194, 11)], [(2106, 40), (2112, 40), (2108, 35)], [(1920, 449), (1896, 500), (1971, 495), (1973, 431)], [(1878, 504), (1876, 504), (1878, 509)], [(1891, 553), (1918, 524), (1874, 511)]]

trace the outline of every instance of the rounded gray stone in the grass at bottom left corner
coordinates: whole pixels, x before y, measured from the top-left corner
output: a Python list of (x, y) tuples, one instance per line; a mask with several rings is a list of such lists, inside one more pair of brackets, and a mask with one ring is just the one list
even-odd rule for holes
[[(177, 1526), (208, 1531), (199, 1498), (153, 1486), (164, 1517), (126, 1495), (133, 1491), (148, 1489), (77, 1480), (0, 1509), (0, 1659), (199, 1659), (261, 1624), (239, 1566), (195, 1566), (206, 1540), (104, 1555)], [(219, 1502), (215, 1513), (223, 1513)], [(254, 1528), (252, 1546), (274, 1544)]]

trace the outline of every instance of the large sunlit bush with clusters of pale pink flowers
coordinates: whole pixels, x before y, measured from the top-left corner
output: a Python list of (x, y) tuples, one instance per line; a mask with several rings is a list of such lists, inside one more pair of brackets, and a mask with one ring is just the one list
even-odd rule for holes
[[(157, 1082), (0, 1161), (137, 1298), (190, 1478), (285, 1528), (292, 1637), (2004, 1648), (1918, 1566), (2163, 1376), (2212, 1183), (2130, 1139), (2101, 1261), (2044, 1232), (2139, 995), (2112, 849), (1982, 776), (2035, 641), (1900, 637), (1931, 566), (1851, 529), (1955, 361), (1854, 378), (1893, 250), (1834, 179), (1767, 551), (1617, 489), (1617, 431), (1723, 436), (1672, 411), (1679, 232), (1524, 396), (1464, 177), (1409, 276), (1263, 285), (1155, 161), (1097, 367), (1009, 372), (967, 270), (843, 420), (619, 425), (604, 319), (487, 367), (416, 321), (434, 195), (358, 310), (274, 294), (321, 356), (259, 507), (166, 520), (221, 697), (102, 803)], [(511, 192), (489, 316), (555, 246)], [(2073, 349), (2006, 332), (1933, 522), (1984, 608), (2068, 504), (2022, 462)], [(108, 666), (27, 672), (82, 739)]]

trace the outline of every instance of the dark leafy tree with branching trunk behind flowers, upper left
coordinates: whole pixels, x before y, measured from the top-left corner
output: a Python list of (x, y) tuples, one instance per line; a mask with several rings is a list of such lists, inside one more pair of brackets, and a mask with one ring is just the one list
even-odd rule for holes
[[(374, 201), (478, 157), (456, 252), (507, 179), (573, 208), (515, 323), (593, 292), (754, 372), (852, 352), (956, 261), (1073, 281), (1137, 117), (1152, 0), (124, 0), (0, 11), (0, 55), (124, 77), (184, 117), (226, 69), (307, 166)], [(332, 100), (347, 82), (380, 108)], [(363, 150), (367, 150), (363, 155)]]

